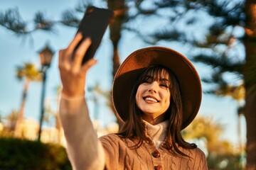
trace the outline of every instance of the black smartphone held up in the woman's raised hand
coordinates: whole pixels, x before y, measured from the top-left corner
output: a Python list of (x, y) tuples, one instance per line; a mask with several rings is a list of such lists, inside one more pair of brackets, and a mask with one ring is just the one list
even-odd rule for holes
[[(82, 64), (95, 55), (97, 47), (99, 47), (105, 30), (113, 16), (114, 13), (110, 9), (97, 8), (95, 6), (87, 7), (82, 21), (80, 21), (78, 32), (82, 32), (82, 40), (90, 38), (92, 40), (92, 44), (85, 53), (85, 56), (82, 59)], [(80, 43), (78, 46), (79, 45)]]

